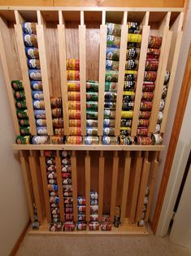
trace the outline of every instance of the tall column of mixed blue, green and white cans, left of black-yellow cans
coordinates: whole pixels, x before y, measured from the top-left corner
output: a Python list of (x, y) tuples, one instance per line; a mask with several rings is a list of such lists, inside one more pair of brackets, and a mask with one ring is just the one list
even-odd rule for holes
[(102, 143), (117, 144), (115, 137), (115, 110), (119, 73), (121, 25), (107, 23), (106, 37), (106, 82), (104, 93), (104, 121)]

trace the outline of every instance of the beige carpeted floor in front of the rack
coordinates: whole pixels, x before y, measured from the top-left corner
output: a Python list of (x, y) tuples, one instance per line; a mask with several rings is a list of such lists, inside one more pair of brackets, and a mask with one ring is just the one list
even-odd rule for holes
[(188, 249), (156, 236), (26, 235), (16, 256), (189, 256)]

